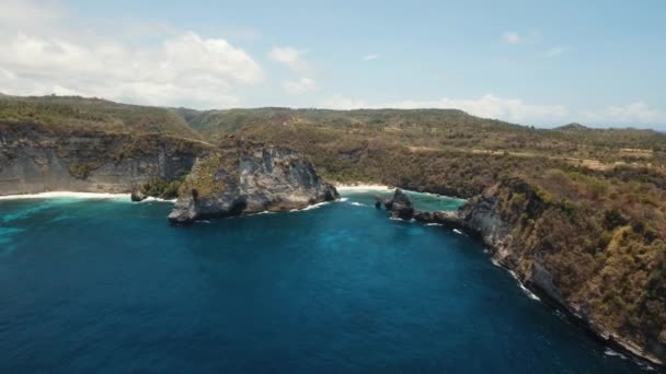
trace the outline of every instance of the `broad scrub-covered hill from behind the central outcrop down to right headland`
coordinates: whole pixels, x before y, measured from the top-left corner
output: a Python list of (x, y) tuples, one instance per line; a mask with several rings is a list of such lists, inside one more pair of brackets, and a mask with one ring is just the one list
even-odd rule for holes
[(294, 148), (341, 183), (473, 198), (510, 224), (516, 241), (492, 246), (501, 264), (599, 336), (666, 360), (663, 133), (536, 129), (438, 109), (232, 109), (187, 120), (211, 141)]

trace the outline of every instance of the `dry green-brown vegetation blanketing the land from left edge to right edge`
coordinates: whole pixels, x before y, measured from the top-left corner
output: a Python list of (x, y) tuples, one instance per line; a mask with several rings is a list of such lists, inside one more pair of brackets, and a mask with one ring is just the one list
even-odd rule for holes
[[(0, 96), (0, 130), (18, 128), (59, 135), (59, 152), (82, 178), (96, 165), (90, 154), (120, 161), (152, 153), (161, 147), (156, 137), (194, 154), (209, 149), (200, 139), (223, 145), (196, 164), (204, 177), (186, 179), (181, 192), (225, 188), (227, 176), (211, 166), (237, 162), (229, 138), (292, 148), (340, 183), (463, 198), (495, 186), (502, 214), (514, 223), (518, 270), (542, 262), (567, 303), (595, 324), (666, 352), (666, 135), (579, 124), (536, 129), (452, 109), (197, 112)], [(69, 143), (68, 135), (87, 131), (125, 138), (97, 150)], [(177, 189), (164, 180), (143, 188)]]

